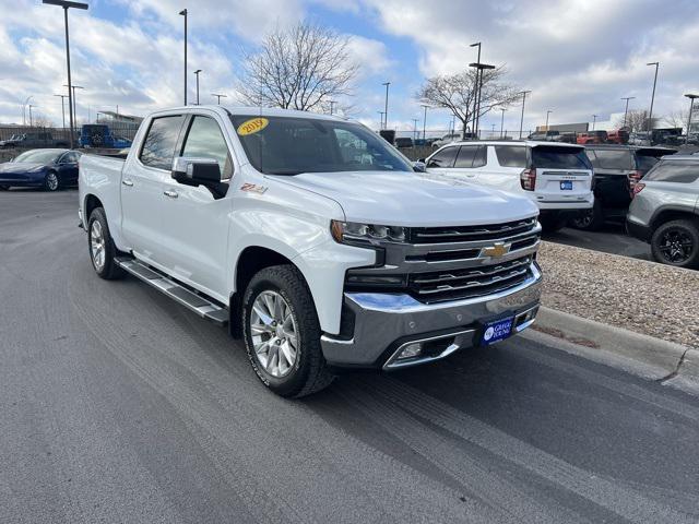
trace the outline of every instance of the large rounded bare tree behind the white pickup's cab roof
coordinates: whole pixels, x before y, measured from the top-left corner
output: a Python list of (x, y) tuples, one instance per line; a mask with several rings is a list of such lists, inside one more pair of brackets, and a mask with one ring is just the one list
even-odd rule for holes
[(300, 23), (276, 28), (246, 56), (238, 90), (246, 104), (329, 112), (331, 99), (351, 94), (356, 74), (346, 37)]

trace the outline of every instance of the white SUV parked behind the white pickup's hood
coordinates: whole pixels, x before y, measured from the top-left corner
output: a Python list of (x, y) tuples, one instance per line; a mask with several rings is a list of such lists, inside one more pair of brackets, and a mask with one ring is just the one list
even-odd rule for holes
[(426, 176), (500, 189), (533, 200), (542, 226), (564, 227), (594, 203), (584, 147), (533, 141), (452, 142), (426, 160)]

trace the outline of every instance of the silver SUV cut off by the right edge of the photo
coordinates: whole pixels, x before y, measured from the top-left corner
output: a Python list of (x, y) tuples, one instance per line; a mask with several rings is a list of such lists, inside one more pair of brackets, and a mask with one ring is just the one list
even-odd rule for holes
[(664, 157), (633, 188), (629, 235), (663, 264), (699, 269), (699, 158)]

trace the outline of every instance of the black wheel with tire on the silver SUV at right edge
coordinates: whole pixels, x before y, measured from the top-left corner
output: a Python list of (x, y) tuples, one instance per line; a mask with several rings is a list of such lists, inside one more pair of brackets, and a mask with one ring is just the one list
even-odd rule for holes
[(699, 269), (699, 223), (679, 219), (662, 224), (651, 236), (651, 252), (660, 263)]

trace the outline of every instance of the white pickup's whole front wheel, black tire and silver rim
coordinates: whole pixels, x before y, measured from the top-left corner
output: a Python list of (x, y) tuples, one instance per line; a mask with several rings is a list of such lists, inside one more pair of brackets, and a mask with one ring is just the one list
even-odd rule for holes
[(275, 265), (257, 273), (242, 298), (241, 320), (252, 369), (274, 393), (301, 397), (332, 382), (313, 299), (296, 267)]

